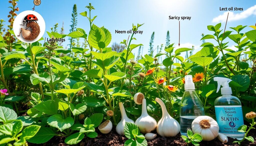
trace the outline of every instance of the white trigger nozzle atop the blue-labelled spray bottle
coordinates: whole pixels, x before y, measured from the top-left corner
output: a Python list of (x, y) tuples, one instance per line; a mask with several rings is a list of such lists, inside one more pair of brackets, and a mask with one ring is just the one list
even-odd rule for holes
[(214, 77), (213, 78), (214, 81), (217, 81), (218, 83), (218, 87), (217, 87), (217, 93), (220, 90), (220, 85), (222, 86), (221, 88), (221, 94), (232, 94), (231, 88), (229, 87), (229, 82), (231, 82), (232, 80), (229, 78), (225, 78), (225, 77)]

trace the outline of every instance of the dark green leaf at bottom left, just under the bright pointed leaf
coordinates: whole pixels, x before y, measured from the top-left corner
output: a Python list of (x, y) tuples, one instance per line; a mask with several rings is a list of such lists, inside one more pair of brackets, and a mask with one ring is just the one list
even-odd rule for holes
[(52, 131), (51, 128), (41, 127), (39, 131), (36, 133), (36, 135), (27, 141), (30, 143), (36, 143), (36, 144), (46, 143), (52, 137), (54, 137), (55, 134), (56, 133)]

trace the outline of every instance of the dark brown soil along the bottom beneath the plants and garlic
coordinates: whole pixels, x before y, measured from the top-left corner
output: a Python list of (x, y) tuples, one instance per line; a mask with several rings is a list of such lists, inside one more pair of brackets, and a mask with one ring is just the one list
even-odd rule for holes
[[(83, 139), (79, 144), (80, 146), (123, 146), (124, 142), (127, 140), (126, 137), (120, 136), (115, 132), (115, 129), (113, 127), (112, 131), (109, 134), (101, 134), (98, 129), (96, 130), (98, 133), (98, 137), (94, 139)], [(153, 131), (152, 133), (156, 133), (156, 131)], [(244, 140), (241, 145), (248, 145), (248, 146), (256, 146), (256, 130), (252, 129), (250, 130), (248, 136), (252, 136), (254, 138), (254, 143), (249, 142), (248, 140)], [(42, 146), (68, 146), (64, 142), (65, 137), (54, 137), (50, 141), (44, 144), (40, 144)], [(235, 141), (233, 138), (228, 137), (228, 143), (222, 143), (217, 138), (212, 141), (202, 141), (200, 142), (200, 146), (239, 146), (239, 144), (233, 144), (232, 142)], [(157, 135), (157, 137), (153, 140), (147, 141), (148, 146), (169, 146), (169, 145), (177, 145), (177, 146), (186, 146), (186, 142), (180, 137), (180, 134), (178, 134), (175, 137), (161, 137)], [(35, 145), (29, 143), (29, 145)], [(192, 146), (192, 144), (189, 144)]]

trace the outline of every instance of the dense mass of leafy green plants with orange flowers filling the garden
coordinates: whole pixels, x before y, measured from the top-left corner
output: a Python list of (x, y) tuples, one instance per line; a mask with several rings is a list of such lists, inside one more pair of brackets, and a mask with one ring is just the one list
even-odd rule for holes
[[(121, 52), (113, 51), (109, 47), (112, 37), (108, 28), (94, 23), (97, 9), (92, 4), (86, 6), (84, 12), (77, 12), (76, 5), (73, 7), (69, 33), (64, 34), (63, 29), (58, 32), (58, 24), (47, 31), (49, 38), (69, 40), (66, 48), (59, 42), (47, 42), (45, 38), (34, 43), (21, 42), (12, 29), (16, 12), (19, 11), (17, 2), (10, 1), (9, 22), (0, 21), (1, 146), (51, 145), (54, 139), (61, 138), (68, 145), (97, 145), (94, 139), (108, 137), (108, 134), (118, 135), (115, 127), (124, 116), (121, 115), (120, 102), (127, 118), (133, 121), (123, 123), (125, 140), (120, 144), (152, 145), (156, 141), (147, 139), (146, 133), (141, 133), (143, 130), (135, 125), (134, 121), (141, 116), (143, 107), (139, 94), (136, 99), (134, 95), (144, 95), (146, 111), (156, 122), (167, 114), (179, 121), (185, 75), (193, 76), (205, 115), (213, 119), (216, 119), (214, 101), (221, 96), (220, 92), (216, 93), (217, 83), (213, 78), (230, 78), (232, 93), (242, 102), (245, 121), (245, 125), (238, 130), (245, 132), (246, 136), (241, 141), (229, 139), (229, 144), (255, 145), (255, 26), (250, 26), (248, 32), (243, 29), (249, 26), (238, 25), (227, 28), (225, 32), (225, 24), (205, 26), (209, 31), (203, 35), (201, 40), (204, 42), (198, 52), (193, 52), (192, 46), (174, 47), (168, 31), (166, 45), (162, 44), (159, 48), (161, 51), (155, 54), (150, 51), (135, 57), (133, 49), (140, 48), (141, 51), (143, 47), (138, 43), (140, 40), (136, 39), (136, 34), (120, 39), (120, 44), (124, 46)], [(78, 15), (89, 20), (84, 25), (90, 26), (90, 29), (76, 28)], [(7, 26), (6, 30), (4, 25)], [(144, 25), (131, 24), (131, 29), (138, 31)], [(151, 39), (152, 44), (154, 33)], [(237, 44), (236, 50), (230, 49), (231, 41)], [(149, 50), (152, 48), (150, 46)], [(184, 58), (183, 53), (190, 55)], [(164, 113), (165, 110), (162, 113), (162, 105), (156, 100), (164, 103), (167, 113)], [(102, 134), (100, 130), (104, 125), (99, 126), (106, 120), (110, 120), (106, 123), (111, 122), (113, 128), (110, 133)], [(190, 129), (187, 134), (188, 137), (178, 134), (175, 138), (185, 145), (206, 144), (200, 134)], [(161, 136), (157, 134), (155, 139), (161, 139)]]

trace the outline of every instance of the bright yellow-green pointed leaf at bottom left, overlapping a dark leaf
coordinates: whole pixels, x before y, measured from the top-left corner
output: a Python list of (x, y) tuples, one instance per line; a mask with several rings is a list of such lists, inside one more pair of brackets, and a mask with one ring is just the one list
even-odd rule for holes
[(20, 139), (30, 139), (36, 135), (36, 133), (39, 131), (41, 126), (38, 125), (30, 125), (23, 129), (22, 135), (20, 136)]

